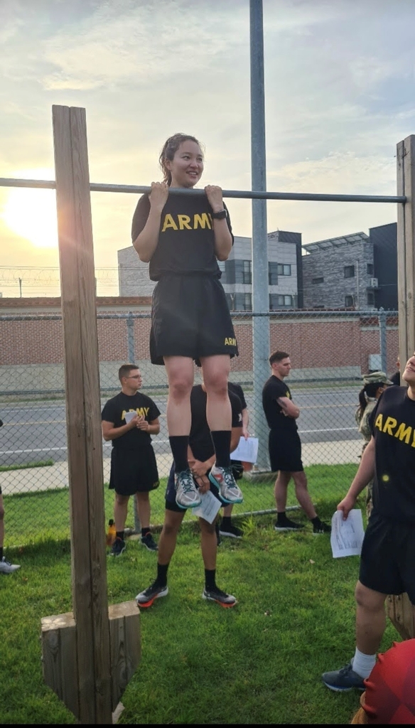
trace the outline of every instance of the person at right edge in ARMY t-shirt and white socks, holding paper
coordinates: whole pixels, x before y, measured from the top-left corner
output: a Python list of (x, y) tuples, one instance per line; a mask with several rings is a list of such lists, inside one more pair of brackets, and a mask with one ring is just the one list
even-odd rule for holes
[(365, 689), (386, 626), (388, 594), (408, 593), (415, 606), (415, 354), (403, 372), (405, 387), (388, 387), (371, 416), (372, 437), (347, 496), (337, 510), (347, 519), (374, 478), (374, 507), (363, 539), (355, 590), (355, 656), (323, 673), (331, 690)]

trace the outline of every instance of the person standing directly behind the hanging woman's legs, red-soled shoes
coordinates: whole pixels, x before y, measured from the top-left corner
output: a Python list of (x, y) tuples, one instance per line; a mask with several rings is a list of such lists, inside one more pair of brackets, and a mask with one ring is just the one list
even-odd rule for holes
[[(210, 491), (222, 505), (224, 503), (223, 496), (219, 494), (216, 483), (209, 478), (210, 469), (215, 463), (215, 450), (212, 438), (210, 437), (208, 420), (206, 419), (206, 399), (207, 394), (204, 384), (199, 384), (191, 389), (191, 430), (188, 449), (189, 469), (201, 496)], [(240, 441), (242, 407), (239, 397), (236, 397), (232, 392), (229, 392), (229, 400), (232, 408), (232, 452)], [(154, 603), (155, 599), (166, 596), (168, 593), (167, 570), (175, 551), (178, 531), (186, 513), (177, 504), (175, 499), (174, 466), (170, 470), (170, 476), (167, 482), (165, 508), (165, 522), (159, 538), (157, 577), (147, 589), (135, 597), (140, 607), (149, 607)], [(208, 601), (214, 601), (216, 604), (224, 607), (232, 607), (237, 604), (236, 598), (232, 594), (227, 594), (222, 591), (216, 585), (216, 552), (218, 542), (216, 539), (215, 523), (214, 521), (210, 523), (206, 518), (199, 517), (199, 526), (202, 558), (205, 565), (205, 588), (203, 589), (202, 598)]]

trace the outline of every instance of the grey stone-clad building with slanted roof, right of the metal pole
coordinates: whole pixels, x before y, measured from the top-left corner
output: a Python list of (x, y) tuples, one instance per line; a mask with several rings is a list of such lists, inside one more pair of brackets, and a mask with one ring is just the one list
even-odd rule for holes
[(304, 307), (373, 309), (378, 287), (374, 244), (364, 232), (303, 246)]

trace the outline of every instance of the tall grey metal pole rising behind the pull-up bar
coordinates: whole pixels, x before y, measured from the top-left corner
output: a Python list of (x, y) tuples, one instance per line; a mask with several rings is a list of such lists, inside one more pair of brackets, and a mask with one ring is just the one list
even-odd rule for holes
[[(262, 0), (250, 0), (250, 149), (252, 189), (266, 190), (264, 21)], [(252, 201), (253, 312), (269, 311), (268, 238), (266, 199)], [(269, 370), (269, 318), (253, 316), (253, 426), (259, 438), (258, 470), (269, 470), (268, 427), (261, 408), (261, 394)]]

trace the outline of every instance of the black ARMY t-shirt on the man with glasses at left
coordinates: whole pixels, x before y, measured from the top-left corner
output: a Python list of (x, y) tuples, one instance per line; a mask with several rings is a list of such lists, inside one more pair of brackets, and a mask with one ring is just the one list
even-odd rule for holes
[[(118, 395), (108, 400), (103, 408), (101, 419), (106, 422), (114, 422), (114, 427), (122, 427), (123, 424), (127, 424), (126, 412), (136, 412), (147, 422), (153, 422), (160, 414), (157, 405), (147, 395), (143, 395), (141, 392), (137, 392), (135, 395), (125, 395), (124, 392), (119, 392)], [(135, 450), (150, 443), (149, 432), (138, 430), (138, 427), (133, 427), (133, 430), (128, 430), (125, 435), (112, 440), (112, 446), (117, 450)]]

